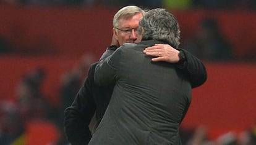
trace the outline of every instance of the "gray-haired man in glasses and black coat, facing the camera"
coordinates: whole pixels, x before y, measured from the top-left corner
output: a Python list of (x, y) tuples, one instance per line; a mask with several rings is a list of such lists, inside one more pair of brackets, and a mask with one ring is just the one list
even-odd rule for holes
[[(137, 6), (122, 7), (116, 12), (113, 18), (113, 39), (101, 59), (104, 60), (124, 43), (139, 42), (137, 30), (144, 14), (144, 10)], [(145, 49), (144, 53), (152, 57), (152, 62), (165, 61), (170, 63), (170, 67), (176, 66), (179, 71), (187, 75), (192, 88), (202, 85), (207, 80), (207, 72), (202, 61), (186, 50), (174, 49), (169, 44), (148, 46), (150, 47)], [(65, 110), (64, 130), (71, 144), (88, 144), (113, 93), (113, 84), (105, 86), (95, 84), (94, 73), (97, 63), (90, 66), (88, 75), (75, 96), (74, 102)], [(93, 129), (89, 130), (91, 120), (95, 123)], [(90, 124), (91, 128), (92, 124)]]

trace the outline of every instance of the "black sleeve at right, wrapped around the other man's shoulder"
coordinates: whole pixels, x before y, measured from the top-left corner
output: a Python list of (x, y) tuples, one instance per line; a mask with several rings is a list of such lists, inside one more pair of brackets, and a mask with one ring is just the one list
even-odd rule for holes
[(183, 64), (178, 64), (178, 68), (182, 69), (182, 71), (187, 74), (192, 88), (199, 87), (207, 80), (207, 70), (205, 65), (203, 65), (201, 60), (199, 60), (187, 50), (179, 50), (184, 53), (186, 61), (184, 61)]

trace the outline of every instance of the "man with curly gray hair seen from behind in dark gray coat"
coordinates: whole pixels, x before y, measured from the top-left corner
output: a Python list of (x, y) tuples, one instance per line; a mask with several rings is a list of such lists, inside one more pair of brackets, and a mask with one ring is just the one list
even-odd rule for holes
[(122, 45), (96, 65), (95, 84), (116, 85), (89, 144), (181, 144), (179, 125), (191, 102), (189, 77), (174, 64), (151, 61), (143, 53), (160, 43), (177, 49), (178, 22), (168, 11), (153, 9), (136, 31), (136, 44)]

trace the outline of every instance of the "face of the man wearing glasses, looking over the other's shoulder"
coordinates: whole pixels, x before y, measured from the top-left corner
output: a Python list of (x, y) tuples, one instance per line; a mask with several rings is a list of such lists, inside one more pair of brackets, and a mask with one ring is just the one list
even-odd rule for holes
[(119, 42), (119, 45), (141, 41), (141, 39), (138, 39), (136, 30), (139, 27), (139, 21), (142, 17), (143, 15), (138, 13), (129, 19), (121, 18), (119, 20), (118, 29), (116, 30), (113, 28), (113, 34)]

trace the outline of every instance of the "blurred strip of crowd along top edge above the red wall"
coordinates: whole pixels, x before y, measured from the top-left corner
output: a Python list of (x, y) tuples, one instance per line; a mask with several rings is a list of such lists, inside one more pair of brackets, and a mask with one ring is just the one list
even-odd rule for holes
[(1, 0), (9, 4), (40, 6), (127, 6), (169, 9), (248, 9), (256, 10), (254, 0)]

